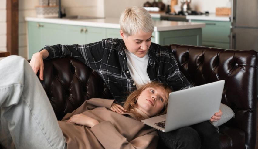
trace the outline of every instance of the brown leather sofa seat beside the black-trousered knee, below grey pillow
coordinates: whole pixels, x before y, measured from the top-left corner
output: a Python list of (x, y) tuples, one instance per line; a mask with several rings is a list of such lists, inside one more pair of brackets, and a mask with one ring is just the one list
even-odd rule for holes
[(222, 125), (219, 127), (219, 141), (223, 149), (245, 148), (245, 132)]

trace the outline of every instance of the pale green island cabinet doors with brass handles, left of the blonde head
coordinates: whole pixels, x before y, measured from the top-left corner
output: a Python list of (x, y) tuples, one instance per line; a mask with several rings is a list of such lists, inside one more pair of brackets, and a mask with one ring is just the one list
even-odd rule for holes
[(45, 45), (87, 44), (104, 38), (105, 28), (28, 22), (29, 58)]

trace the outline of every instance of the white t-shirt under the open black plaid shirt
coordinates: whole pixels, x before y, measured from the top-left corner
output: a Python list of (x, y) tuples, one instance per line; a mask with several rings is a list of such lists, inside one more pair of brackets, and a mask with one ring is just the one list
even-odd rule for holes
[(151, 82), (147, 73), (148, 53), (143, 58), (134, 55), (128, 50), (125, 50), (125, 54), (127, 56), (127, 67), (132, 79), (134, 80), (136, 88), (138, 89), (139, 86)]

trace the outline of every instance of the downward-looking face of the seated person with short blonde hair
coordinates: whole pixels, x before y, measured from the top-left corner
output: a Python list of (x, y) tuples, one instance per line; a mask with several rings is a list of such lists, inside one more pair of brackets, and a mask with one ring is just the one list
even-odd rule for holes
[(151, 34), (152, 32), (145, 33), (141, 31), (135, 35), (126, 36), (122, 30), (120, 31), (127, 50), (140, 58), (148, 53), (148, 49), (151, 45)]

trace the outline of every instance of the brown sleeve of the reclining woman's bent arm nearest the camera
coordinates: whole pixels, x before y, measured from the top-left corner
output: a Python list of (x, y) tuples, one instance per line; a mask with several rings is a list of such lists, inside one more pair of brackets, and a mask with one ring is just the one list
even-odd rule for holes
[(91, 127), (93, 134), (104, 148), (156, 148), (158, 133), (154, 130), (143, 136), (139, 136), (130, 142), (120, 134), (110, 121), (101, 122)]

